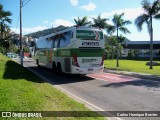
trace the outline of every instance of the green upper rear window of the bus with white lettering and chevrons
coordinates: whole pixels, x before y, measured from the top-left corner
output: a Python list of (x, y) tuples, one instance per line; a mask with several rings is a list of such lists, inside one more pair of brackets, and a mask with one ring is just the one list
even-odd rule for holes
[(103, 32), (95, 30), (77, 30), (76, 38), (81, 40), (103, 40)]

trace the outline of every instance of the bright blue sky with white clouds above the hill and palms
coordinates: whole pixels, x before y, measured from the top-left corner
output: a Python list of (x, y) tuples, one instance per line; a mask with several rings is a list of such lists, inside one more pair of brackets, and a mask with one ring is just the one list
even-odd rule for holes
[[(144, 11), (141, 7), (141, 0), (22, 0), (22, 33), (28, 33), (57, 27), (59, 25), (73, 26), (74, 18), (88, 17), (108, 18), (112, 24), (113, 15), (124, 12), (124, 20), (130, 20), (131, 25), (126, 27), (131, 34), (122, 34), (132, 41), (149, 41), (149, 34), (146, 25), (139, 32), (134, 24), (135, 19)], [(153, 0), (150, 0), (153, 1)], [(11, 11), (11, 29), (19, 33), (20, 0), (0, 0), (4, 10)], [(153, 21), (153, 39), (160, 40), (160, 21)], [(105, 31), (104, 31), (105, 32)]]

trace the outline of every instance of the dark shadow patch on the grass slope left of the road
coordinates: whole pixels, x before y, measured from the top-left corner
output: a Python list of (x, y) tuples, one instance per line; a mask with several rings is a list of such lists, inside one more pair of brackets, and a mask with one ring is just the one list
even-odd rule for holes
[(7, 61), (5, 64), (3, 79), (27, 80), (36, 83), (44, 83), (44, 81), (34, 75), (31, 71), (12, 60)]

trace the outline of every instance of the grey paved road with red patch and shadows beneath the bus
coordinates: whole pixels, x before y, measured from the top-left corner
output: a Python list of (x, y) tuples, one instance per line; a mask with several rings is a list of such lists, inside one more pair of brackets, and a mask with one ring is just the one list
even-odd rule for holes
[[(52, 81), (54, 85), (78, 96), (94, 110), (160, 111), (160, 82), (158, 81), (110, 73), (88, 74), (86, 76), (55, 75), (49, 69), (37, 68), (33, 61), (26, 61), (24, 65)], [(136, 120), (137, 118), (121, 119)], [(151, 118), (138, 119), (150, 120)], [(158, 120), (160, 118), (152, 119)]]

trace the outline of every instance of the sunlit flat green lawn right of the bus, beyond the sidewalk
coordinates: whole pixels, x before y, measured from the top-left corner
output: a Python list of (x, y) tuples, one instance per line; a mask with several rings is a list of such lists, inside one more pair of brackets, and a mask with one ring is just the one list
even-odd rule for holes
[(108, 69), (160, 75), (160, 66), (153, 66), (153, 69), (149, 69), (146, 62), (148, 61), (119, 60), (119, 67), (116, 67), (116, 60), (105, 60), (104, 65)]

